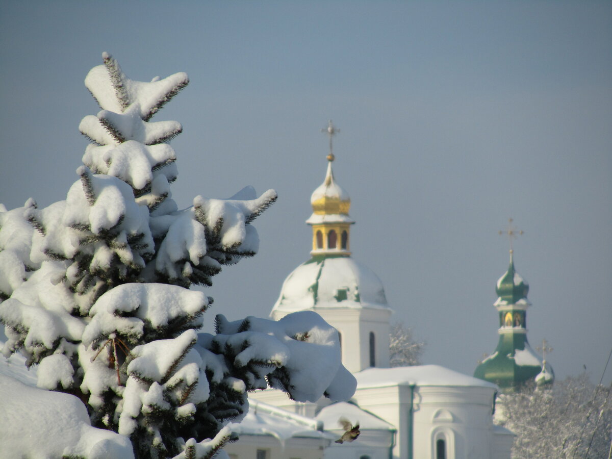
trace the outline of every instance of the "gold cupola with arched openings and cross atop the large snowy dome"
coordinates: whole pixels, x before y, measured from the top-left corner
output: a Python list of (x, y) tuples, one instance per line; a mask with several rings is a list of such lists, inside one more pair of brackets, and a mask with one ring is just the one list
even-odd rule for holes
[(329, 154), (327, 155), (327, 173), (325, 180), (310, 196), (312, 215), (306, 220), (312, 226), (312, 255), (349, 256), (350, 226), (355, 223), (348, 215), (351, 198), (340, 185), (335, 182), (332, 162), (332, 136), (340, 132), (329, 121), (326, 129), (329, 135)]

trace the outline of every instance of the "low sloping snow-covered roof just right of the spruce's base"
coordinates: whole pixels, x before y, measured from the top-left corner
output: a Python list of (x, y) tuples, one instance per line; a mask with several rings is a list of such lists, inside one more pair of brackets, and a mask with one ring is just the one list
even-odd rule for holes
[(310, 417), (268, 405), (253, 398), (248, 399), (248, 412), (239, 423), (231, 423), (231, 431), (242, 435), (266, 435), (283, 442), (289, 438), (334, 439), (324, 432), (323, 424)]

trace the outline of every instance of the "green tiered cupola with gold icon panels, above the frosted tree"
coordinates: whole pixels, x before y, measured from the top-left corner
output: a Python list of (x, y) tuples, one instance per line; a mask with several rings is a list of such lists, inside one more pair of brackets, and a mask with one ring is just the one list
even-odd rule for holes
[(531, 381), (541, 385), (554, 380), (553, 368), (527, 340), (527, 309), (531, 306), (528, 292), (529, 284), (516, 271), (510, 248), (510, 266), (497, 282), (498, 299), (493, 304), (499, 313), (498, 345), (474, 371), (476, 378), (497, 384), (505, 392)]

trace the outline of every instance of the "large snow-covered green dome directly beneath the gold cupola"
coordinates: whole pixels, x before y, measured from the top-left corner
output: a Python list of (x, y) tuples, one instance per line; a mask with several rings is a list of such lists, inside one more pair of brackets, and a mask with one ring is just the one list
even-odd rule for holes
[(389, 308), (383, 283), (364, 264), (348, 256), (313, 257), (285, 279), (273, 310)]

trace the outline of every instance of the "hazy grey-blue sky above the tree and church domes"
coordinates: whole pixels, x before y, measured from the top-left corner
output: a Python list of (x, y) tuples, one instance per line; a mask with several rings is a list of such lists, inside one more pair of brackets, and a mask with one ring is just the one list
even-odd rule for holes
[[(207, 289), (215, 313), (267, 316), (309, 258), (310, 194), (351, 195), (354, 258), (427, 341), (424, 362), (472, 374), (498, 341), (509, 217), (524, 230), (528, 337), (558, 378), (599, 381), (612, 348), (612, 2), (279, 1), (0, 5), (0, 202), (65, 199), (97, 105), (102, 52), (134, 80), (184, 71), (156, 115), (180, 207), (275, 188), (259, 254)], [(210, 327), (207, 327), (210, 329)], [(611, 365), (612, 366), (612, 365)], [(612, 368), (606, 381), (612, 378)]]

